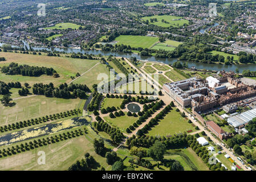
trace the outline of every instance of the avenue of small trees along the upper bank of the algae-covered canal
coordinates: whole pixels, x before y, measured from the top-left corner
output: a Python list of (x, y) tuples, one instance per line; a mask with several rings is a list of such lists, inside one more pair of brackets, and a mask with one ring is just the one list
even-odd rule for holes
[(29, 127), (31, 125), (38, 125), (40, 123), (47, 122), (47, 121), (54, 121), (56, 119), (70, 117), (71, 115), (77, 115), (78, 113), (82, 113), (82, 111), (80, 109), (78, 110), (74, 109), (74, 110), (64, 111), (63, 113), (61, 112), (61, 113), (46, 115), (45, 117), (43, 116), (42, 118), (39, 117), (39, 118), (27, 119), (27, 121), (20, 121), (20, 122), (13, 123), (11, 125), (9, 124), (5, 126), (0, 126), (0, 131), (3, 133), (5, 131), (21, 129), (24, 127)]

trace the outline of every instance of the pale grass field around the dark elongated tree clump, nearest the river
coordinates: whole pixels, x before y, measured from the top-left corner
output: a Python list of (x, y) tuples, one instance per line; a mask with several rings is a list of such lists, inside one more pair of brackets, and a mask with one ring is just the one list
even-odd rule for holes
[[(83, 60), (72, 59), (66, 57), (49, 57), (43, 55), (28, 55), (22, 53), (0, 52), (0, 57), (5, 57), (7, 61), (2, 61), (0, 67), (9, 65), (11, 62), (19, 64), (27, 64), (31, 66), (54, 68), (60, 77), (54, 78), (52, 76), (42, 75), (40, 77), (30, 77), (21, 75), (5, 75), (0, 73), (0, 80), (5, 82), (19, 81), (21, 84), (27, 82), (33, 85), (38, 82), (48, 84), (52, 82), (55, 86), (64, 82), (71, 81), (70, 76), (75, 76), (77, 72), (82, 74), (88, 69), (92, 68), (95, 64), (99, 63), (98, 60)], [(94, 80), (87, 80), (86, 84)]]

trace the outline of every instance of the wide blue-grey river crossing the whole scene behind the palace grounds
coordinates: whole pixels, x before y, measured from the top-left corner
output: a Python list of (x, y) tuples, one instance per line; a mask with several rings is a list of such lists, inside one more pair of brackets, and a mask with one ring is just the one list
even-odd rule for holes
[[(0, 43), (0, 46), (2, 44)], [(26, 43), (27, 48), (29, 48), (29, 45)], [(17, 47), (17, 46), (16, 46)], [(87, 53), (87, 54), (93, 54), (93, 55), (103, 55), (103, 56), (118, 56), (118, 57), (126, 57), (126, 58), (131, 58), (131, 57), (136, 57), (137, 60), (142, 60), (142, 61), (155, 61), (155, 62), (160, 62), (160, 63), (165, 63), (165, 64), (172, 64), (177, 59), (161, 59), (161, 58), (156, 58), (153, 56), (141, 56), (137, 55), (136, 53), (123, 53), (123, 52), (107, 52), (107, 51), (101, 51), (101, 50), (84, 50), (84, 49), (74, 49), (74, 48), (43, 48), (43, 47), (32, 47), (34, 50), (42, 50), (46, 49), (48, 51), (59, 51), (59, 52), (66, 52), (66, 53)], [(181, 61), (181, 63), (188, 63), (188, 67), (196, 67), (197, 69), (211, 69), (215, 71), (221, 71), (225, 69), (226, 71), (235, 71), (235, 69), (239, 69), (239, 72), (242, 73), (244, 69), (250, 69), (250, 71), (256, 71), (256, 64), (243, 64), (243, 65), (224, 65), (224, 64), (205, 64), (205, 63), (193, 63), (193, 62), (188, 62), (188, 61)]]

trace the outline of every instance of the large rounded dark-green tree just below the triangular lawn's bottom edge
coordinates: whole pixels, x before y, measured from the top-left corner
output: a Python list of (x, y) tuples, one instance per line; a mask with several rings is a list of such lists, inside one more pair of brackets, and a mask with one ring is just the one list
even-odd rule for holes
[(162, 160), (164, 159), (165, 150), (165, 145), (162, 144), (159, 140), (156, 140), (153, 146), (149, 148), (148, 155), (151, 156), (151, 158), (154, 160)]

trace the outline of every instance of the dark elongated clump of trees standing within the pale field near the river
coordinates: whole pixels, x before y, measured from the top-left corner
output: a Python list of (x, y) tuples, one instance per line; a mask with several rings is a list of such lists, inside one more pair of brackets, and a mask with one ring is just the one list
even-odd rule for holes
[(9, 66), (1, 68), (2, 73), (8, 75), (22, 75), (22, 76), (41, 76), (41, 75), (53, 75), (56, 73), (53, 68), (46, 67), (31, 67), (30, 65), (18, 65), (18, 63), (10, 63)]

